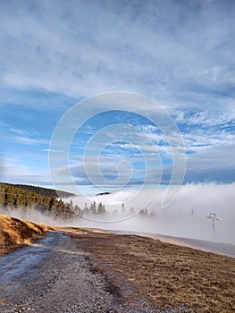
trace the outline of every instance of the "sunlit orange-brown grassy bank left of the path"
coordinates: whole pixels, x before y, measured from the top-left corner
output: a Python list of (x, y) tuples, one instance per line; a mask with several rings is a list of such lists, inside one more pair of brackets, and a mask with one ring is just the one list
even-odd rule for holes
[(0, 215), (0, 257), (45, 236), (47, 226)]

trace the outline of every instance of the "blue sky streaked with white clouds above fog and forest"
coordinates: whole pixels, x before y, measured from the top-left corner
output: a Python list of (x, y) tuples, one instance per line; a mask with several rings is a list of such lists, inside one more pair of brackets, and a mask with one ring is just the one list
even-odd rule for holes
[[(235, 182), (234, 16), (230, 0), (0, 0), (1, 181), (50, 186), (50, 141), (63, 114), (87, 97), (124, 91), (171, 114), (186, 149), (184, 183)], [(130, 166), (127, 185), (158, 182), (160, 163), (170, 181), (169, 144), (144, 117), (148, 106), (142, 116), (132, 108), (117, 113), (110, 103), (112, 112), (84, 120), (68, 157), (74, 182), (90, 186), (84, 149), (109, 125), (99, 162), (110, 186), (119, 174), (126, 183)], [(122, 138), (118, 125), (136, 131)], [(147, 178), (143, 151), (151, 155)], [(94, 157), (96, 146), (87, 169)], [(120, 161), (127, 164), (118, 173)]]

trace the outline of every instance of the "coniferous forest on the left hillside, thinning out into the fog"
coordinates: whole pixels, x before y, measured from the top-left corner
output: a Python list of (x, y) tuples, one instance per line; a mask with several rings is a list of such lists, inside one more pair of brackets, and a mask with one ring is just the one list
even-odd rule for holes
[[(59, 198), (62, 197), (62, 199)], [(27, 212), (32, 209), (46, 215), (52, 216), (57, 220), (72, 221), (80, 216), (104, 216), (108, 212), (105, 205), (101, 202), (91, 202), (89, 205), (84, 204), (83, 207), (74, 205), (69, 197), (75, 196), (69, 192), (46, 189), (42, 187), (30, 185), (14, 185), (10, 183), (0, 182), (0, 209), (8, 212), (15, 209), (21, 209), (23, 215), (27, 216)], [(68, 198), (68, 202), (66, 202)], [(118, 215), (117, 209), (114, 209), (113, 215)], [(133, 207), (129, 209), (122, 203), (122, 216), (134, 214)], [(147, 209), (138, 210), (140, 216), (149, 216)], [(150, 216), (154, 215), (153, 213)]]

